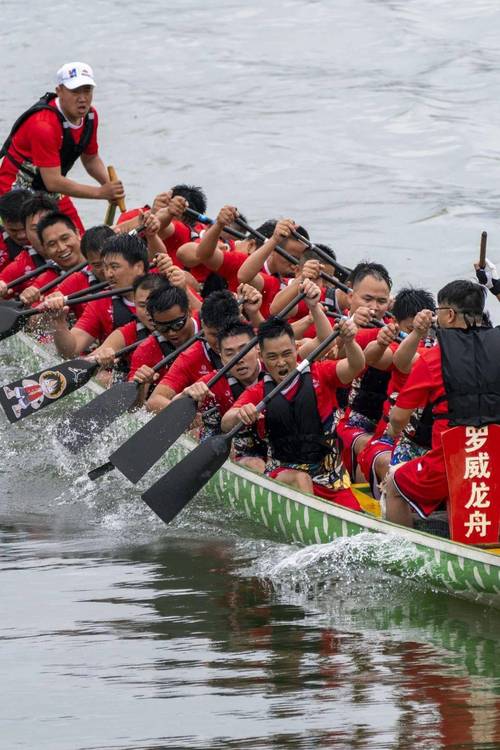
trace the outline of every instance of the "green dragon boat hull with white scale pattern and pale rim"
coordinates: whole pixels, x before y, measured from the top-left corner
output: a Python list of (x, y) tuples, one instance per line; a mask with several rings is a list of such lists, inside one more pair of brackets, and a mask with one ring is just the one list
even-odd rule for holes
[[(52, 348), (26, 333), (12, 336), (3, 342), (3, 347), (6, 354), (23, 362), (23, 369), (40, 369), (58, 359)], [(91, 380), (81, 389), (81, 395), (65, 399), (63, 408), (74, 406), (75, 398), (84, 397), (82, 392), (88, 399), (102, 391), (103, 387)], [(54, 414), (44, 412), (41, 418), (50, 420)], [(138, 426), (133, 413), (127, 419), (131, 430)], [(192, 437), (183, 435), (164, 457), (166, 467), (195, 446)], [(298, 545), (322, 545), (366, 534), (363, 564), (378, 565), (386, 572), (421, 581), (437, 590), (500, 606), (500, 548), (481, 549), (390, 523), (380, 518), (379, 505), (366, 485), (355, 485), (354, 491), (363, 513), (298, 492), (230, 460), (206, 486), (206, 492), (217, 501), (263, 527), (266, 536)]]

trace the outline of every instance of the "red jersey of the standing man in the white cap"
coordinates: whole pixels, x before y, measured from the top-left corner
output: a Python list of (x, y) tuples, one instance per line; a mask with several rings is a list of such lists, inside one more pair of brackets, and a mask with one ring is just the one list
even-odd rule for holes
[[(11, 153), (17, 162), (22, 162), (24, 166), (30, 164), (35, 167), (59, 167), (61, 165), (60, 151), (63, 141), (63, 129), (61, 121), (55, 111), (56, 100), (49, 103), (54, 109), (51, 112), (44, 109), (31, 115), (19, 128), (12, 139), (8, 153)], [(97, 154), (97, 112), (92, 107), (91, 112), (94, 114), (94, 129), (90, 143), (84, 153), (91, 156)], [(69, 132), (75, 143), (80, 142), (83, 134), (84, 123), (79, 127), (70, 125)], [(11, 190), (19, 183), (23, 187), (23, 173), (18, 170), (6, 156), (0, 165), (0, 195)]]

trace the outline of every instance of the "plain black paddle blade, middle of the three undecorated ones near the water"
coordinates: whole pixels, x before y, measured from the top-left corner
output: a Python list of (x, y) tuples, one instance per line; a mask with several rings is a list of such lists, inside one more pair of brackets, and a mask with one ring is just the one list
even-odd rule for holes
[(172, 401), (112, 453), (109, 460), (136, 484), (189, 427), (195, 416), (196, 403), (192, 398)]

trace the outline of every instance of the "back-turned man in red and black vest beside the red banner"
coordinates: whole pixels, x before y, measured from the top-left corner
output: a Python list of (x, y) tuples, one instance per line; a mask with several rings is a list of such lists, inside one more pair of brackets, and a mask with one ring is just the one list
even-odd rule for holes
[(397, 437), (414, 410), (430, 404), (432, 448), (391, 469), (385, 497), (389, 521), (413, 526), (412, 509), (426, 518), (447, 501), (444, 430), (500, 422), (500, 330), (482, 327), (484, 302), (482, 288), (471, 281), (452, 281), (438, 292), (438, 345), (420, 354), (390, 416)]

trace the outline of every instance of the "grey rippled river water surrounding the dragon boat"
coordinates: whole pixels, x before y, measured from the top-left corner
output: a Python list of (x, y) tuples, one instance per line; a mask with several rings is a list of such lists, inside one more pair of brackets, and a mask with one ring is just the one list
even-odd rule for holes
[[(484, 229), (500, 261), (499, 28), (494, 0), (4, 0), (1, 131), (83, 59), (129, 206), (200, 184), (437, 291)], [(0, 344), (0, 382), (23, 366)], [(166, 529), (53, 424), (0, 417), (2, 748), (500, 747), (497, 612), (209, 497)]]

